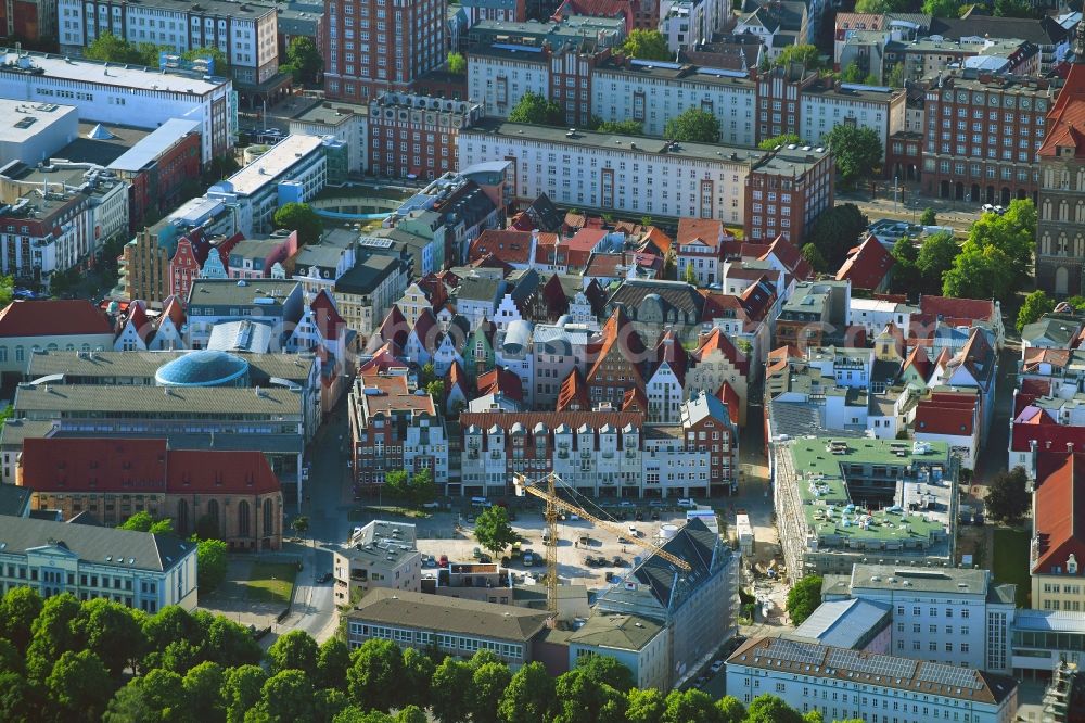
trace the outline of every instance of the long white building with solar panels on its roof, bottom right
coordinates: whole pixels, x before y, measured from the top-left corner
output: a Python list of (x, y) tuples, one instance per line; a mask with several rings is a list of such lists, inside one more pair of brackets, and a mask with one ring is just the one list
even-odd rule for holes
[(1018, 707), (1017, 681), (997, 673), (773, 637), (746, 640), (727, 659), (727, 693), (871, 723), (1008, 723)]

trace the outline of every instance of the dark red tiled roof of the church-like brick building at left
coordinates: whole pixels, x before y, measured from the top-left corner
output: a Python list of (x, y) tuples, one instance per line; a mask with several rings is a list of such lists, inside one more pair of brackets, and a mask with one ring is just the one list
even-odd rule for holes
[(263, 494), (279, 480), (260, 452), (167, 449), (165, 440), (23, 442), (23, 485), (37, 492)]

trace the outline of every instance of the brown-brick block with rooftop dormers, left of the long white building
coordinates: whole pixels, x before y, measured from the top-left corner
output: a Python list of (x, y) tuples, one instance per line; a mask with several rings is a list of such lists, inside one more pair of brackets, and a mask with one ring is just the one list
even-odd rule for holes
[(456, 170), (459, 131), (481, 117), (472, 101), (382, 93), (369, 104), (369, 172), (432, 180)]

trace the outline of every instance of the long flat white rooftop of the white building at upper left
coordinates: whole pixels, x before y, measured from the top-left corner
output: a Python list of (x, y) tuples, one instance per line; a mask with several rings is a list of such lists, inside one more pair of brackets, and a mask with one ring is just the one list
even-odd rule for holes
[[(34, 74), (30, 68), (41, 68), (43, 72)], [(26, 75), (28, 78), (34, 78), (37, 75), (74, 83), (93, 83), (140, 90), (187, 94), (191, 92), (195, 96), (205, 96), (230, 84), (229, 78), (177, 75), (142, 65), (124, 65), (74, 58), (65, 60), (61, 55), (26, 51), (23, 51), (22, 56), (18, 56), (14, 48), (0, 48), (0, 76), (14, 74)]]

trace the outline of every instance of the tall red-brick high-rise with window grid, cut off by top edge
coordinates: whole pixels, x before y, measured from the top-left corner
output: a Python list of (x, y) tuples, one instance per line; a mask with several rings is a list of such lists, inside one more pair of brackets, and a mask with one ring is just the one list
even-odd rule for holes
[(369, 102), (386, 90), (407, 91), (445, 62), (445, 3), (330, 0), (324, 5), (324, 92)]

